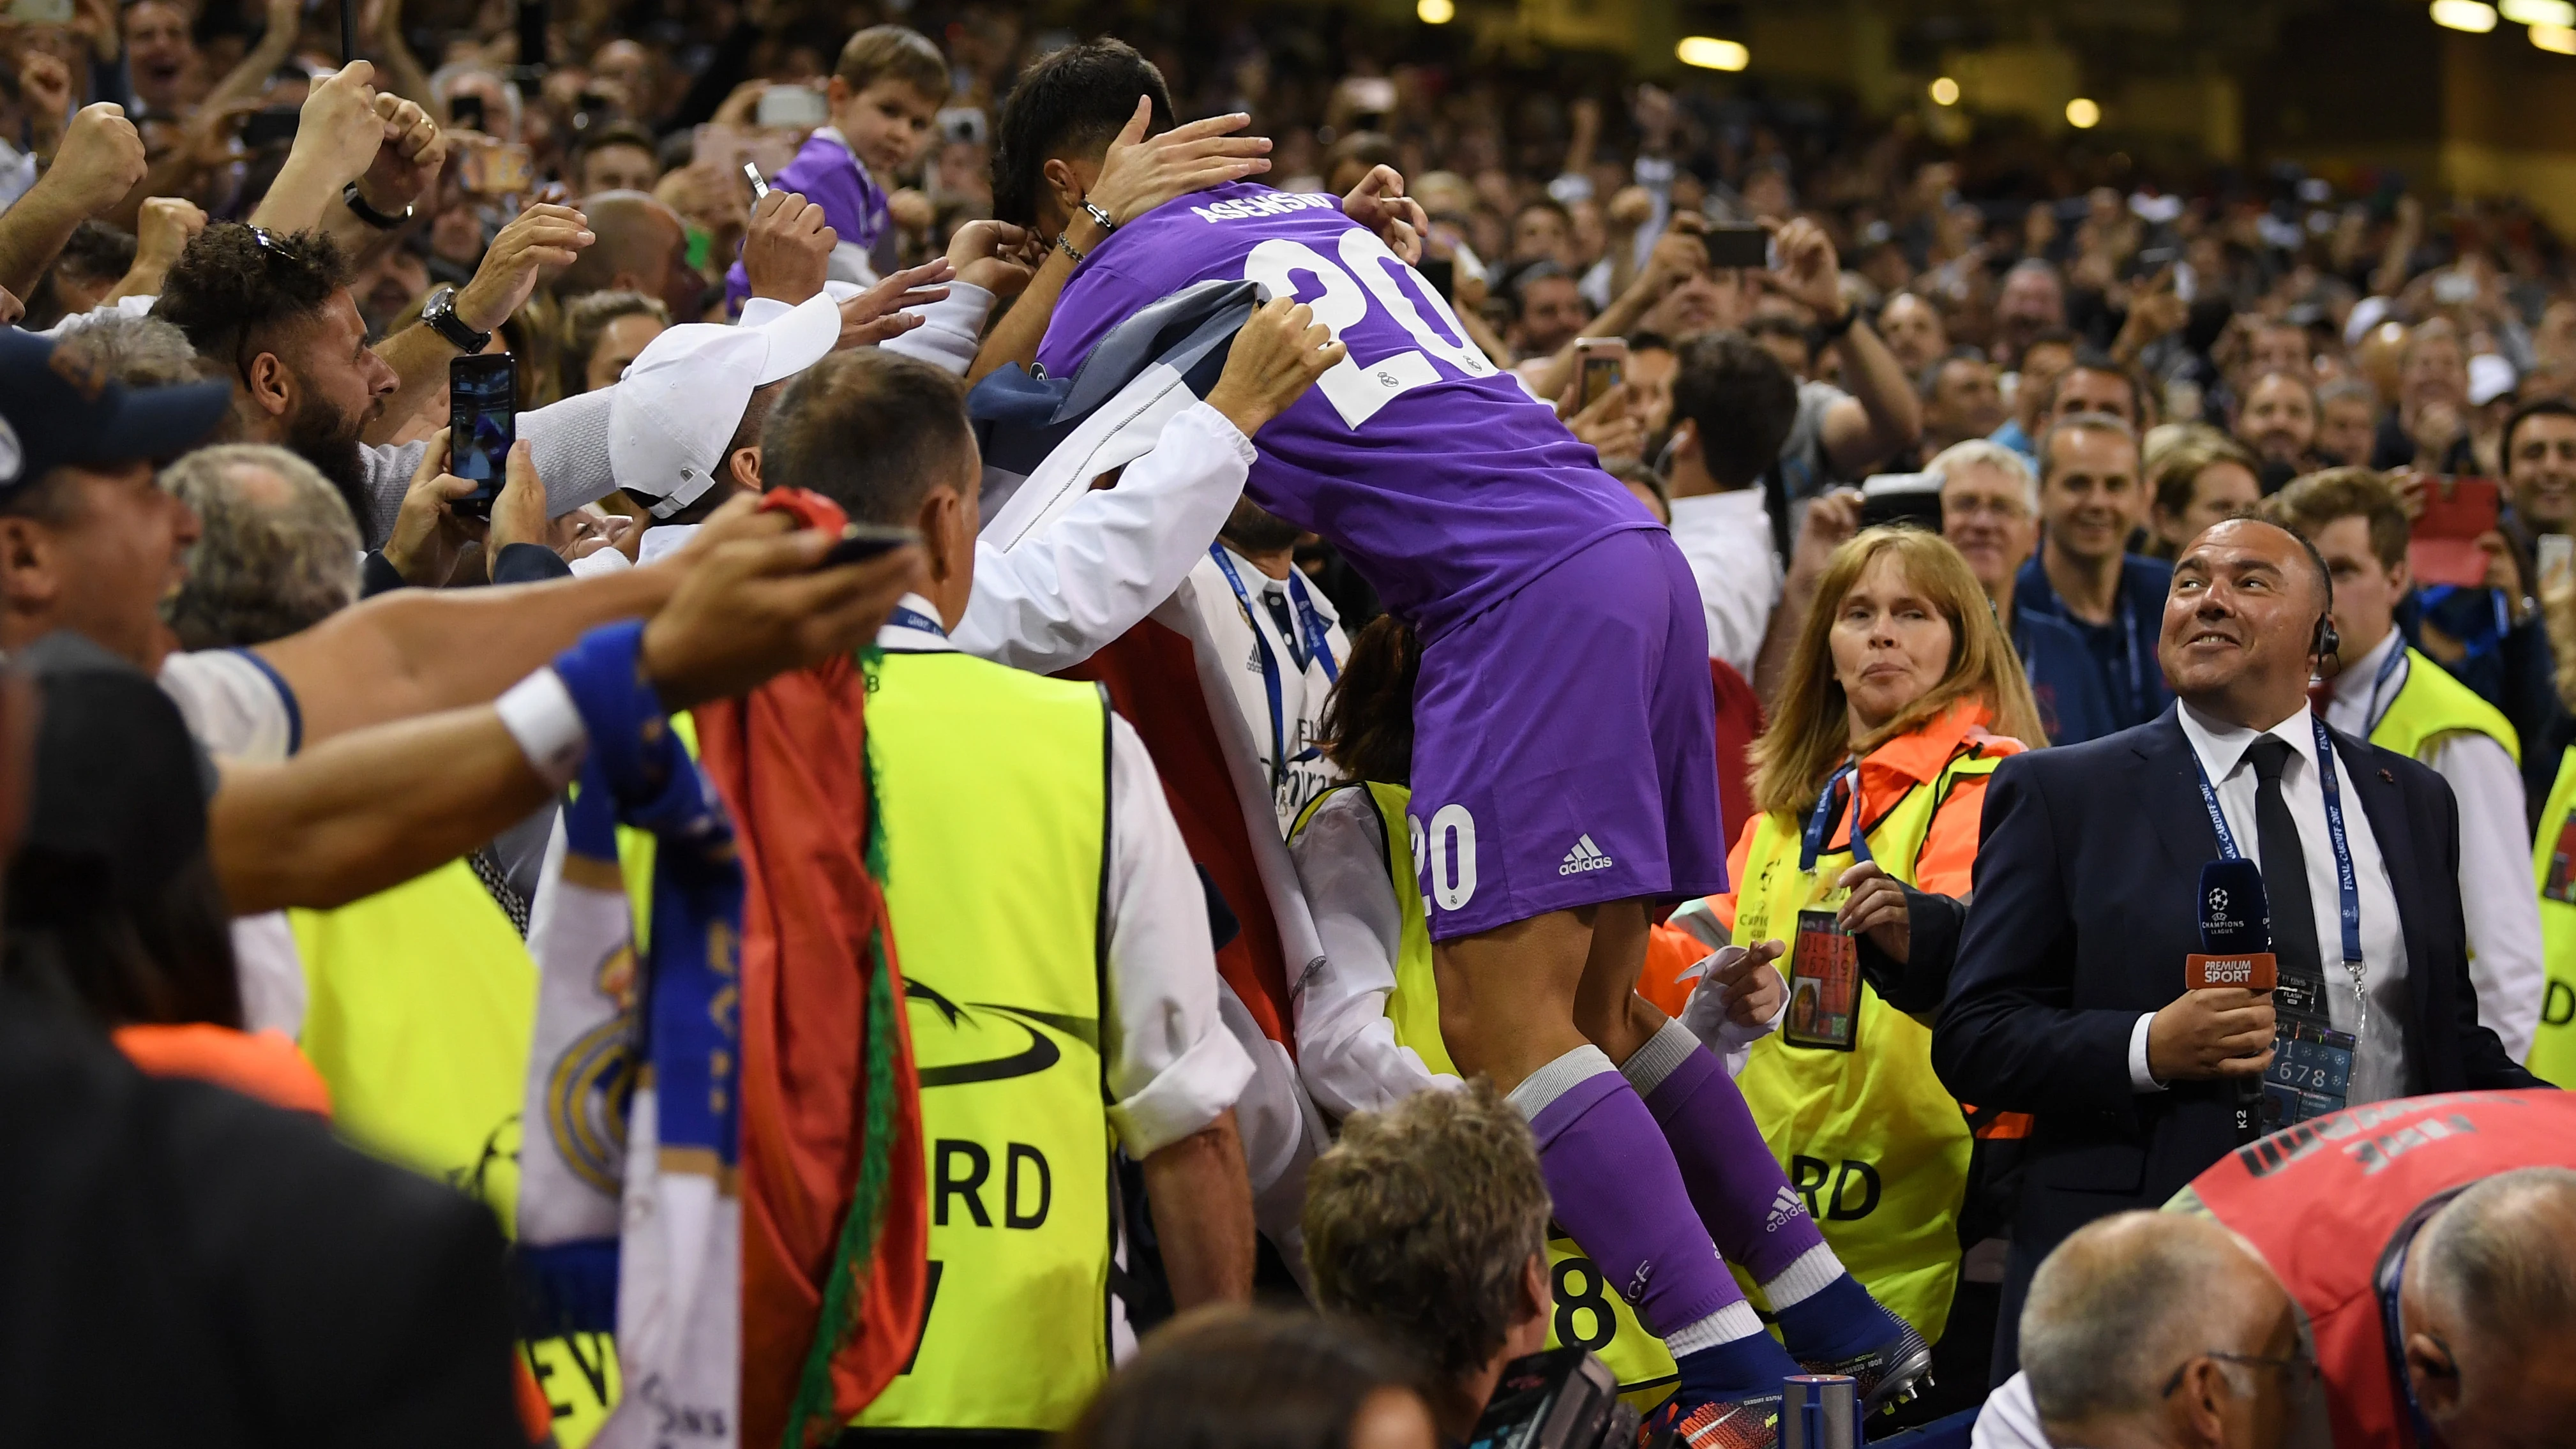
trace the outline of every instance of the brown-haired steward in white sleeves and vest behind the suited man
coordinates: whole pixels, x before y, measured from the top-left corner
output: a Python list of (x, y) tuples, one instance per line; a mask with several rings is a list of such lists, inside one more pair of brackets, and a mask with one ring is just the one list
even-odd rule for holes
[(2409, 522), (2385, 474), (2311, 474), (2275, 494), (2269, 510), (2334, 571), (2342, 672), (2321, 703), (2326, 723), (2421, 759), (2460, 800), (2460, 906), (2478, 1022), (2522, 1060), (2540, 1027), (2543, 952), (2514, 726), (2398, 633), (2396, 605), (2411, 587)]

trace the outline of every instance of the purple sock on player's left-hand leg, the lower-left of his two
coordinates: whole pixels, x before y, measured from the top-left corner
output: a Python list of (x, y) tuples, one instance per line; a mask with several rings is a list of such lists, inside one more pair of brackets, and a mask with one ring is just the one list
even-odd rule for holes
[[(1577, 1048), (1512, 1089), (1538, 1138), (1556, 1220), (1656, 1338), (1692, 1341), (1744, 1292), (1708, 1246), (1654, 1114), (1600, 1048)], [(1744, 1310), (1752, 1320), (1752, 1310)], [(1705, 1328), (1703, 1328), (1705, 1336)]]

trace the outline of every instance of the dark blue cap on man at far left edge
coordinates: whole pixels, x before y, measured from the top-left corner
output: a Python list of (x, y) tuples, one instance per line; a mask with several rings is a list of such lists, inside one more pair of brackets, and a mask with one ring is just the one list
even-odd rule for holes
[(232, 383), (129, 389), (67, 358), (52, 337), (0, 327), (0, 497), (52, 468), (162, 463), (196, 448), (232, 407)]

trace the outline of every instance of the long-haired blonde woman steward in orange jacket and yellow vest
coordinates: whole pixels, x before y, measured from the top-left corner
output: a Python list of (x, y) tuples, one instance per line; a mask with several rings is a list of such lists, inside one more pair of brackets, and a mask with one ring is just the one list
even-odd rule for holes
[(2043, 739), (1958, 551), (1865, 530), (1834, 551), (1754, 744), (1759, 813), (1728, 860), (1736, 888), (1674, 914), (1710, 945), (1780, 960), (1788, 1017), (1752, 1045), (1744, 1099), (1826, 1243), (1924, 1341), (1958, 1284), (1971, 1130), (1909, 1014), (1932, 1011), (1942, 983), (1906, 973), (1906, 888), (1968, 893), (1986, 780)]

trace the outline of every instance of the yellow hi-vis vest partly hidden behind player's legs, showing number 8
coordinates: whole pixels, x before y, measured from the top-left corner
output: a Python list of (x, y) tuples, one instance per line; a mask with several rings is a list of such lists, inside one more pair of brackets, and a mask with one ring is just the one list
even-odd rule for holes
[[(1422, 875), (1414, 867), (1412, 834), (1404, 806), (1412, 790), (1404, 785), (1337, 785), (1306, 800), (1291, 834), (1306, 829), (1314, 811), (1337, 790), (1368, 790), (1368, 803), (1378, 811), (1386, 834), (1386, 878), (1396, 888), (1396, 911), (1404, 929), (1396, 939), (1396, 988), (1386, 993), (1386, 1019), (1396, 1027), (1396, 1045), (1412, 1048), (1422, 1066), (1443, 1076), (1458, 1076), (1458, 1063), (1440, 1037), (1440, 983), (1432, 978), (1432, 934), (1422, 906)], [(909, 957), (907, 957), (909, 960)], [(1589, 1349), (1618, 1374), (1620, 1398), (1638, 1413), (1672, 1398), (1680, 1369), (1664, 1341), (1646, 1333), (1636, 1310), (1618, 1295), (1618, 1284), (1574, 1246), (1553, 1223), (1548, 1225), (1548, 1349)]]

